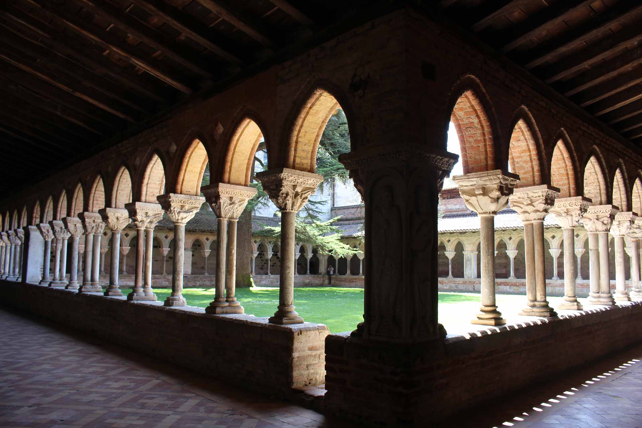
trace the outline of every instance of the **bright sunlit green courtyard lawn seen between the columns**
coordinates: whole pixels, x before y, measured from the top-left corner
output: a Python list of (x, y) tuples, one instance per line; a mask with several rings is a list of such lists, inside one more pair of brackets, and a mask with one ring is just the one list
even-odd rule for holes
[[(123, 294), (131, 289), (123, 289)], [(169, 288), (155, 288), (159, 302), (171, 293)], [(191, 306), (206, 307), (214, 300), (214, 287), (185, 288), (183, 296)], [(278, 287), (237, 288), (236, 299), (245, 307), (246, 314), (272, 316), (279, 305)], [(551, 307), (557, 307), (561, 297), (549, 297)], [(296, 311), (306, 321), (327, 325), (332, 333), (351, 331), (363, 321), (363, 289), (342, 287), (295, 287), (294, 304)], [(471, 325), (470, 321), (479, 311), (480, 295), (476, 293), (439, 293), (439, 322), (447, 332), (463, 334), (484, 329), (482, 325)], [(508, 323), (532, 319), (517, 316), (526, 306), (526, 296), (497, 295), (499, 311)]]

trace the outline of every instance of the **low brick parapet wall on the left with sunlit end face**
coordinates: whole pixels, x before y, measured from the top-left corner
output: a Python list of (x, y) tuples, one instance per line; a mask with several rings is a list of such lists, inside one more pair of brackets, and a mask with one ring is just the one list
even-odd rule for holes
[(324, 382), (323, 324), (275, 325), (4, 280), (0, 303), (263, 394)]

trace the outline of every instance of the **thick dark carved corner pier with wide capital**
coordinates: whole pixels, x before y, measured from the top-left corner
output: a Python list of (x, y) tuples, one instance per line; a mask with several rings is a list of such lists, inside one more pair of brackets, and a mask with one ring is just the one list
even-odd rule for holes
[(437, 203), (457, 159), (404, 142), (340, 155), (365, 201), (365, 313), (353, 336), (397, 343), (446, 336), (437, 320)]

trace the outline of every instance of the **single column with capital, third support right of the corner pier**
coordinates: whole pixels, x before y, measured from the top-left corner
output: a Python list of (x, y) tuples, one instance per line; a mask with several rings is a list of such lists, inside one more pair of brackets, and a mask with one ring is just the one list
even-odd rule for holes
[[(550, 209), (551, 214), (554, 215), (553, 218), (560, 225), (564, 234), (564, 303), (559, 306), (559, 309), (582, 310), (582, 304), (577, 300), (577, 283), (575, 275), (573, 275), (575, 273), (575, 257), (578, 250), (575, 248), (575, 226), (582, 216), (586, 214), (586, 210), (590, 206), (591, 200), (589, 198), (573, 196), (555, 200), (555, 205)], [(584, 253), (583, 249), (577, 255), (578, 263), (582, 253)], [(552, 251), (551, 255), (553, 255)], [(553, 257), (553, 260), (555, 261), (555, 257)], [(555, 277), (557, 277), (557, 270), (555, 270)]]

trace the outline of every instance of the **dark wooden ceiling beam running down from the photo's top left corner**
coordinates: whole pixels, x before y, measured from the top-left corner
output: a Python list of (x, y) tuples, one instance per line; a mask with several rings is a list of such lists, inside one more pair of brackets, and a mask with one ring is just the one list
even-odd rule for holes
[[(35, 41), (39, 41), (40, 44), (51, 44), (49, 49), (55, 49), (57, 53), (65, 55), (68, 58), (78, 58), (82, 61), (82, 64), (87, 65), (87, 67), (92, 69), (98, 76), (109, 78), (114, 81), (114, 83), (132, 89), (148, 99), (153, 99), (159, 103), (167, 102), (166, 98), (162, 96), (162, 88), (160, 86), (157, 87), (156, 85), (148, 83), (137, 73), (126, 73), (126, 69), (123, 69), (123, 67), (109, 58), (98, 54), (98, 52), (89, 49), (88, 46), (79, 42), (76, 37), (58, 32), (51, 26), (39, 21), (39, 19), (15, 8), (15, 6), (10, 6), (10, 10), (8, 11), (3, 11), (2, 8), (0, 8), (0, 15), (16, 22), (23, 28), (31, 30), (33, 34), (44, 38), (44, 40), (37, 40), (34, 37), (30, 38), (31, 40), (35, 39)], [(159, 94), (159, 92), (161, 94)]]

